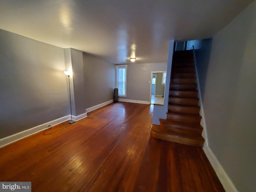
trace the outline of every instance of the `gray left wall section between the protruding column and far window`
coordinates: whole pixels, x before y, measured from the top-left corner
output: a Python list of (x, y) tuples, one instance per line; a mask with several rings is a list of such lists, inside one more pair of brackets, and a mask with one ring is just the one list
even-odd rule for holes
[(115, 65), (83, 53), (86, 108), (113, 99)]

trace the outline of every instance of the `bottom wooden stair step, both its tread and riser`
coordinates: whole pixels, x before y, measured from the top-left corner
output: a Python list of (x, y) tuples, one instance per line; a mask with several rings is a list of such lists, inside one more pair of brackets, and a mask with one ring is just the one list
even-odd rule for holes
[(175, 134), (166, 133), (161, 130), (159, 125), (155, 125), (155, 124), (152, 124), (150, 129), (150, 134), (154, 138), (186, 144), (190, 146), (202, 147), (204, 145), (204, 138), (202, 136), (187, 137), (184, 135), (177, 135), (177, 134), (175, 135)]

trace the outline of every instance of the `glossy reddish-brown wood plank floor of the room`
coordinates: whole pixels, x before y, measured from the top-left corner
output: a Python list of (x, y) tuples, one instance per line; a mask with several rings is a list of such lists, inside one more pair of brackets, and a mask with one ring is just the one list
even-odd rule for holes
[(201, 148), (150, 137), (152, 113), (113, 103), (0, 148), (0, 181), (31, 181), (32, 192), (223, 192)]

